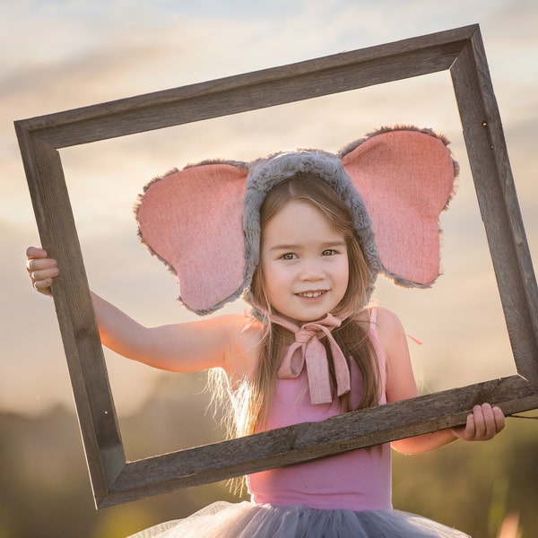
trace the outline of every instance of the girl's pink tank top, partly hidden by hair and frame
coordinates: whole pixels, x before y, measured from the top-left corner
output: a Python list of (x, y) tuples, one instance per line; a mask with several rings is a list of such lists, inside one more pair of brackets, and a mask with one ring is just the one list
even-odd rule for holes
[[(386, 357), (377, 337), (376, 308), (370, 310), (369, 334), (381, 371), (386, 404)], [(360, 398), (359, 369), (351, 362), (351, 402)], [(324, 421), (341, 414), (338, 402), (311, 404), (306, 369), (294, 379), (278, 379), (267, 430), (299, 422)], [(257, 504), (302, 505), (309, 508), (347, 508), (355, 511), (392, 508), (390, 445), (360, 448), (304, 464), (270, 469), (247, 476), (248, 490)]]

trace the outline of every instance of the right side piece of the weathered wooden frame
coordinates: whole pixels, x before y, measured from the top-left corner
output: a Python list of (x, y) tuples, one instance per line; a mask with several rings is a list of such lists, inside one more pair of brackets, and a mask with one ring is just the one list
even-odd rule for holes
[(538, 386), (538, 288), (478, 30), (451, 73), (516, 368)]

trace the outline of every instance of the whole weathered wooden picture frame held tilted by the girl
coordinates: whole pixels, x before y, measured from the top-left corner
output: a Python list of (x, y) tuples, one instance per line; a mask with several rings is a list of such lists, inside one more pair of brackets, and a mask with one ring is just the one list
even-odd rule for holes
[[(519, 375), (126, 461), (57, 149), (449, 70)], [(538, 407), (538, 293), (478, 25), (15, 122), (97, 508), (461, 424), (473, 404)]]

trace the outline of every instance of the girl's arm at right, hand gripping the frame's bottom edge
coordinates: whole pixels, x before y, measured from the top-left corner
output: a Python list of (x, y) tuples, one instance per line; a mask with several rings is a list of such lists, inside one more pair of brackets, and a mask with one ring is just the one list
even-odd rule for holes
[[(398, 317), (385, 308), (377, 312), (377, 333), (386, 352), (386, 399), (398, 402), (419, 395), (412, 372), (407, 337)], [(490, 404), (476, 405), (467, 416), (465, 426), (438, 430), (412, 438), (392, 442), (398, 452), (416, 454), (429, 452), (462, 438), (468, 441), (489, 440), (504, 428), (505, 417), (499, 407)]]

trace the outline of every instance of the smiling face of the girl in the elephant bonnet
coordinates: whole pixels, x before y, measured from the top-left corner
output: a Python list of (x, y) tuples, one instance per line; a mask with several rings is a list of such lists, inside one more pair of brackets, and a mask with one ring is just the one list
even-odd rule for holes
[(295, 321), (324, 317), (347, 290), (343, 234), (306, 202), (289, 202), (265, 223), (260, 264), (267, 299), (282, 316)]

